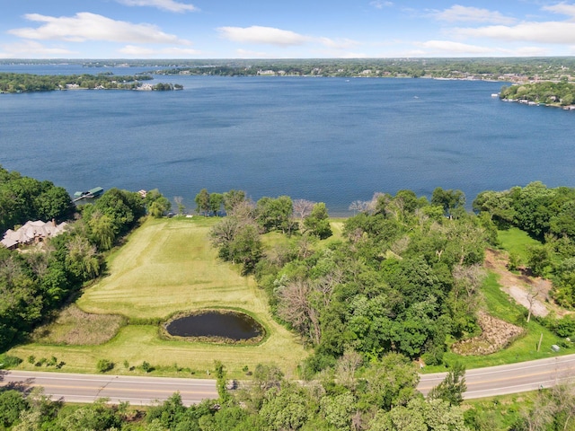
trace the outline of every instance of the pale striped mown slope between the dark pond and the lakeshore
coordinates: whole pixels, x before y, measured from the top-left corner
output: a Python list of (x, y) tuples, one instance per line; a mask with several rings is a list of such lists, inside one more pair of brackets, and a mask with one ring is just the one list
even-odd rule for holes
[[(146, 222), (111, 260), (111, 276), (89, 289), (78, 305), (86, 312), (120, 313), (128, 318), (162, 318), (206, 303), (255, 305), (245, 295), (253, 281), (217, 260), (208, 232), (209, 225), (190, 220)], [(139, 257), (123, 258), (133, 253)]]

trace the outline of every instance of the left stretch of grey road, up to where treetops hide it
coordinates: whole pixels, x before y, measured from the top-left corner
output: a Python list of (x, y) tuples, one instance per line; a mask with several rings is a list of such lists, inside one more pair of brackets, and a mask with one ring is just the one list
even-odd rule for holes
[(144, 406), (153, 404), (155, 400), (166, 400), (176, 391), (180, 392), (186, 406), (204, 399), (217, 399), (214, 380), (21, 371), (0, 373), (0, 385), (15, 385), (24, 390), (42, 386), (52, 400), (68, 402), (109, 398), (113, 403), (129, 401), (132, 406)]

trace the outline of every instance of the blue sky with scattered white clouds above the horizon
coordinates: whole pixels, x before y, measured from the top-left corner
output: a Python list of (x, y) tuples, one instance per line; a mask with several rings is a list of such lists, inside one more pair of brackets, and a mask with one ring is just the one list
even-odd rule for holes
[(575, 55), (575, 0), (0, 0), (0, 58)]

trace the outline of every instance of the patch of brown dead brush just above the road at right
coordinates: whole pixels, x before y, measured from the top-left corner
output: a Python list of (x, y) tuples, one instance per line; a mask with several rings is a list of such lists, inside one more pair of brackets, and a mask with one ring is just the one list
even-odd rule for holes
[(465, 339), (454, 344), (451, 349), (458, 355), (491, 355), (502, 348), (508, 347), (517, 337), (525, 331), (507, 321), (501, 321), (486, 312), (479, 312), (477, 316), (482, 335)]

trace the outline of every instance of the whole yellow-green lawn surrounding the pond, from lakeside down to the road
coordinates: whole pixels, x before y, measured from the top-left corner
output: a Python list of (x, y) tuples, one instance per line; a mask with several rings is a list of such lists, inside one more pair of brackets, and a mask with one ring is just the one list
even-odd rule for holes
[[(163, 320), (174, 312), (228, 308), (248, 312), (260, 321), (268, 337), (258, 346), (226, 346), (161, 339), (158, 327), (130, 324), (111, 341), (98, 346), (56, 346), (40, 343), (15, 347), (11, 354), (26, 358), (56, 356), (67, 372), (95, 372), (98, 359), (115, 362), (113, 373), (143, 361), (158, 369), (177, 364), (206, 375), (220, 360), (230, 376), (243, 376), (245, 365), (279, 365), (295, 376), (308, 352), (299, 339), (273, 321), (265, 293), (251, 277), (240, 277), (233, 266), (217, 259), (207, 240), (217, 219), (203, 217), (151, 219), (128, 238), (108, 260), (109, 275), (86, 289), (77, 300), (84, 312), (119, 314), (132, 323)], [(26, 361), (21, 367), (34, 368)], [(166, 373), (163, 373), (166, 374)], [(169, 374), (169, 373), (168, 373)]]

